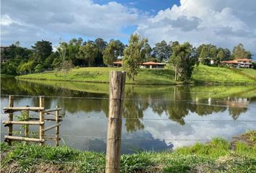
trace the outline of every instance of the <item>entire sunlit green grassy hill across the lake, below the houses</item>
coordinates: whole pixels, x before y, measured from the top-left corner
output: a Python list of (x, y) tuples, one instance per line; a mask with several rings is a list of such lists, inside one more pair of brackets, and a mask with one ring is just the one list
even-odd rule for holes
[[(66, 75), (58, 71), (49, 71), (41, 74), (17, 76), (17, 78), (108, 83), (109, 71), (111, 70), (121, 71), (122, 69), (107, 67), (73, 68)], [(237, 71), (229, 68), (200, 65), (195, 67), (192, 81), (198, 84), (256, 84), (255, 75), (256, 72), (253, 69), (242, 69), (241, 73), (237, 73)], [(127, 84), (169, 85), (182, 84), (182, 82), (174, 81), (174, 71), (171, 69), (140, 69), (135, 81), (127, 79)]]

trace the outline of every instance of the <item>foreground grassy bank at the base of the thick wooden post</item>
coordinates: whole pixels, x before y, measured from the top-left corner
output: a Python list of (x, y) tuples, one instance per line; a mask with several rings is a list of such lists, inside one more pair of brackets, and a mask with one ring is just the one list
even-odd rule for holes
[[(256, 130), (231, 143), (210, 143), (160, 153), (140, 151), (121, 156), (121, 172), (256, 172)], [(103, 172), (105, 155), (35, 144), (1, 143), (1, 172)]]

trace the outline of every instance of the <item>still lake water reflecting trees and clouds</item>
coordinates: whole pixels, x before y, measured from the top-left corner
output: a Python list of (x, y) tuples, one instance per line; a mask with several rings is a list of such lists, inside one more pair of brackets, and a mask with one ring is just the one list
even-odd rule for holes
[[(8, 117), (3, 108), (9, 100), (3, 94), (23, 95), (14, 97), (14, 106), (38, 106), (38, 97), (25, 96), (45, 95), (46, 109), (62, 107), (61, 145), (106, 150), (108, 84), (1, 78), (1, 121)], [(231, 139), (255, 129), (256, 86), (127, 85), (125, 89), (123, 153), (168, 150), (216, 136)], [(14, 130), (22, 128), (15, 125)], [(38, 126), (31, 125), (30, 130), (38, 132)], [(1, 125), (1, 141), (6, 132)], [(54, 134), (49, 130), (46, 136)]]

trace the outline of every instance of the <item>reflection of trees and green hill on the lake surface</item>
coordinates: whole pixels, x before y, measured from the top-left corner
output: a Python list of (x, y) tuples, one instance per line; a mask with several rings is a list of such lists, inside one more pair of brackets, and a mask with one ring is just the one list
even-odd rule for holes
[[(88, 91), (88, 92), (87, 92)], [(251, 93), (251, 94), (247, 94)], [(46, 107), (59, 104), (63, 113), (103, 112), (108, 115), (108, 84), (86, 84), (61, 81), (20, 81), (1, 79), (1, 94), (54, 96), (46, 98)], [(60, 97), (60, 98), (56, 98)], [(64, 97), (64, 98), (63, 98)], [(65, 97), (96, 97), (65, 98)], [(103, 99), (101, 99), (103, 98)], [(143, 118), (156, 114), (167, 115), (171, 121), (185, 124), (189, 113), (199, 116), (228, 111), (233, 120), (247, 112), (249, 102), (255, 102), (254, 86), (132, 86), (127, 85), (124, 99), (125, 126), (132, 133), (144, 128)], [(15, 98), (22, 101), (23, 97)], [(38, 99), (31, 98), (35, 105)], [(152, 111), (148, 111), (152, 110)]]

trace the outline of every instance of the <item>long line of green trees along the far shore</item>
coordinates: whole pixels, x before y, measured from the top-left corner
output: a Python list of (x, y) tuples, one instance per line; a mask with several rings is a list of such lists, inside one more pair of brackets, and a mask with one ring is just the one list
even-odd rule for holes
[[(195, 64), (220, 66), (221, 61), (252, 58), (252, 53), (245, 50), (241, 43), (232, 51), (212, 44), (202, 44), (195, 48), (188, 42), (166, 43), (165, 40), (151, 48), (147, 38), (134, 34), (129, 38), (128, 45), (114, 39), (107, 43), (102, 38), (88, 41), (73, 38), (68, 43), (59, 43), (56, 50), (53, 50), (52, 43), (47, 40), (37, 41), (30, 49), (20, 47), (20, 42), (17, 42), (1, 51), (1, 58), (8, 59), (1, 63), (1, 74), (11, 75), (54, 69), (62, 70), (65, 74), (76, 66), (111, 66), (114, 61), (122, 59), (124, 69), (132, 80), (143, 61), (158, 61), (168, 63), (174, 68), (175, 80), (185, 81), (192, 75)], [(214, 61), (214, 64), (210, 61)]]

